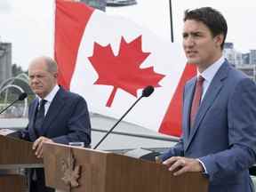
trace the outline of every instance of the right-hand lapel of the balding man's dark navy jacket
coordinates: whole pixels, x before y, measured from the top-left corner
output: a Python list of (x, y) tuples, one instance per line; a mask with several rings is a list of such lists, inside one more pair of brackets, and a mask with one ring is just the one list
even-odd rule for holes
[(63, 100), (64, 92), (65, 91), (60, 87), (60, 90), (57, 92), (54, 99), (52, 100), (50, 108), (48, 109), (47, 114), (44, 118), (44, 123), (42, 126), (42, 132), (41, 132), (42, 135), (45, 135), (48, 128), (52, 124), (52, 121), (56, 119), (56, 116), (60, 114), (61, 108), (64, 107), (64, 100)]

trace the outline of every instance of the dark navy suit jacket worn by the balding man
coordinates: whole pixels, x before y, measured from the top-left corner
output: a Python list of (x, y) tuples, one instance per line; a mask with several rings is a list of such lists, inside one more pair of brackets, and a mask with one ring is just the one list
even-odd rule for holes
[[(38, 100), (35, 99), (28, 108), (28, 126), (21, 132), (21, 137), (25, 140), (36, 140), (33, 126), (37, 106)], [(44, 117), (43, 126), (38, 134), (57, 143), (68, 144), (68, 142), (80, 141), (84, 142), (85, 146), (89, 146), (91, 123), (84, 98), (60, 87)]]

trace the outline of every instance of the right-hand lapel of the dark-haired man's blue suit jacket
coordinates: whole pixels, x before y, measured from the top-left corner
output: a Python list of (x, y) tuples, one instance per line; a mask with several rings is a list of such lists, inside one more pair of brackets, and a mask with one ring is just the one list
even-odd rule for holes
[[(218, 94), (220, 93), (220, 90), (223, 86), (223, 79), (225, 79), (227, 76), (228, 76), (228, 63), (226, 61), (222, 64), (219, 71), (213, 77), (212, 83), (210, 84), (207, 92), (204, 95), (204, 100), (202, 101), (200, 107), (198, 108), (198, 113), (196, 114), (194, 126), (190, 128), (191, 131), (188, 137), (188, 142), (185, 144), (185, 150), (187, 150), (189, 144), (193, 140), (196, 134), (196, 131), (200, 127), (200, 124), (204, 119), (204, 116), (207, 113), (208, 109), (212, 106), (213, 101), (217, 98)], [(192, 97), (193, 97), (193, 94), (191, 98)], [(190, 114), (190, 107), (189, 107), (188, 115), (189, 114)], [(189, 116), (188, 116), (188, 120), (189, 120)]]

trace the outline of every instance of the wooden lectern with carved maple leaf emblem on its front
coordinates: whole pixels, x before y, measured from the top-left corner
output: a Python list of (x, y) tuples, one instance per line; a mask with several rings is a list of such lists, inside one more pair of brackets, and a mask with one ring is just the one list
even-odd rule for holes
[(44, 144), (46, 185), (72, 192), (206, 192), (201, 173), (174, 177), (164, 164), (99, 150)]

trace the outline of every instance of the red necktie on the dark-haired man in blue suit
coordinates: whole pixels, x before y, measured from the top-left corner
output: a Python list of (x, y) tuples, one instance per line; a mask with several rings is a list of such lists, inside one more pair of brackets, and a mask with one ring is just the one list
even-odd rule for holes
[(193, 98), (191, 111), (190, 111), (190, 128), (193, 127), (194, 125), (196, 113), (200, 105), (200, 100), (203, 93), (203, 83), (204, 83), (204, 77), (198, 76), (196, 79), (196, 90), (194, 92), (194, 98)]

